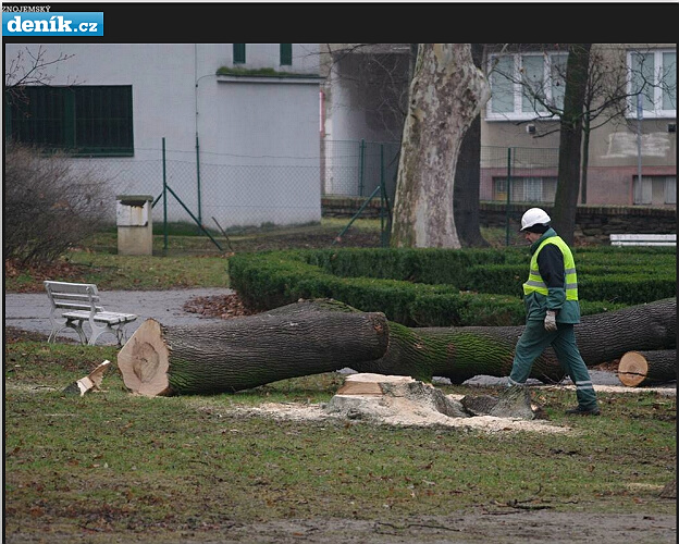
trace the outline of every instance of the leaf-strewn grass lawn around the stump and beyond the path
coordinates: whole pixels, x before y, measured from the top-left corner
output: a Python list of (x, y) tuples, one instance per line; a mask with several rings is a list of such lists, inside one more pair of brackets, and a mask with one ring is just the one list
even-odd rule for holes
[[(323, 243), (330, 246), (344, 224), (323, 224)], [(358, 226), (379, 244), (379, 227)], [(275, 233), (249, 248), (291, 244), (286, 236), (293, 235), (301, 239), (299, 233)], [(69, 279), (103, 289), (229, 285), (227, 255), (209, 247), (120, 257), (106, 249), (112, 244), (106, 236), (61, 263), (76, 274)], [(306, 232), (304, 239), (311, 239)], [(232, 243), (238, 242), (234, 235)], [(5, 264), (5, 290), (42, 289), (44, 272), (14, 272), (8, 276)], [(103, 391), (64, 393), (116, 355), (113, 346), (5, 336), (7, 542), (226, 542), (232, 528), (246, 523), (332, 517), (397, 526), (470, 508), (554, 516), (676, 512), (676, 499), (659, 497), (676, 479), (674, 395), (602, 393), (601, 417), (569, 418), (564, 410), (573, 404), (572, 391), (534, 390), (550, 423), (568, 428), (541, 433), (274, 419), (251, 411), (264, 403), (325, 403), (343, 383), (336, 372), (236, 394), (146, 398), (127, 392), (113, 364)], [(494, 393), (436, 386), (446, 394)]]

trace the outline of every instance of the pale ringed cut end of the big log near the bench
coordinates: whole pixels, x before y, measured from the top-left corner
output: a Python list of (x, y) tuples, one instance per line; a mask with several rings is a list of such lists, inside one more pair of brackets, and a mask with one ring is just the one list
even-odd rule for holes
[(160, 323), (147, 319), (118, 354), (118, 369), (132, 393), (149, 397), (168, 394), (170, 353), (162, 337)]

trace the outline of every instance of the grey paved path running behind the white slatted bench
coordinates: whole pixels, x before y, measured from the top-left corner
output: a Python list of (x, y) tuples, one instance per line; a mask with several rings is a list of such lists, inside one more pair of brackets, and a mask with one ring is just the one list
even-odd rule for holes
[[(127, 337), (149, 318), (163, 325), (189, 325), (221, 321), (219, 318), (206, 318), (198, 313), (184, 311), (184, 302), (194, 297), (206, 297), (232, 294), (227, 288), (173, 289), (173, 290), (104, 290), (101, 302), (110, 311), (136, 313), (137, 320), (125, 327)], [(4, 326), (15, 326), (24, 331), (34, 331), (49, 335), (50, 306), (47, 293), (5, 293)], [(77, 339), (73, 331), (62, 333)], [(104, 334), (97, 344), (115, 344), (112, 334)]]

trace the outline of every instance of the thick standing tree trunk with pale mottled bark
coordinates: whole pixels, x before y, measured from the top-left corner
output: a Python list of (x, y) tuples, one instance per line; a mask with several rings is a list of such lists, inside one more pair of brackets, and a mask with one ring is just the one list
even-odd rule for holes
[(465, 133), (487, 97), (469, 44), (419, 45), (400, 146), (393, 247), (460, 247), (453, 180)]

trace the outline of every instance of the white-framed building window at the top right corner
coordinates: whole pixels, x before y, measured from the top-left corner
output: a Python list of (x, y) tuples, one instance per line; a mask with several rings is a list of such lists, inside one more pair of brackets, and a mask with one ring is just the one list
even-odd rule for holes
[(629, 114), (637, 116), (638, 97), (644, 118), (677, 116), (677, 51), (628, 53)]

